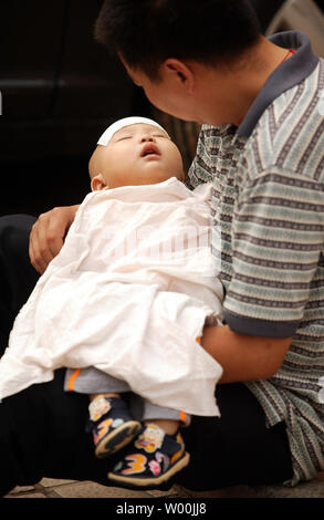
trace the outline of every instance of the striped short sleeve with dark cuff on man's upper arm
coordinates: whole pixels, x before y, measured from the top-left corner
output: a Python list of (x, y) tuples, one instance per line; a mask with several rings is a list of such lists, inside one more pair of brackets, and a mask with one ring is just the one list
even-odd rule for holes
[(290, 337), (310, 301), (323, 248), (323, 186), (278, 167), (242, 188), (232, 222), (224, 319), (238, 333)]

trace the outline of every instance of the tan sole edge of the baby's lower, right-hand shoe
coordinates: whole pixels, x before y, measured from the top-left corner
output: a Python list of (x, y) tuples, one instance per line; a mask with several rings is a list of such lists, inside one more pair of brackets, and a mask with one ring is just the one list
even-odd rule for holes
[(166, 485), (170, 478), (176, 474), (181, 471), (190, 461), (190, 455), (185, 453), (184, 456), (171, 466), (168, 471), (166, 471), (160, 477), (146, 477), (146, 478), (136, 478), (136, 477), (124, 477), (122, 475), (115, 475), (114, 472), (108, 472), (108, 479), (119, 486), (128, 489), (155, 489)]

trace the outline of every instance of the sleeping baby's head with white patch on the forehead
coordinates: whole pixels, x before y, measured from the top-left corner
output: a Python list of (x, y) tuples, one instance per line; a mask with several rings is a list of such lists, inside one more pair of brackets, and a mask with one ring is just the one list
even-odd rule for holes
[(97, 143), (88, 171), (93, 190), (185, 179), (179, 149), (160, 125), (145, 117), (125, 117), (111, 125)]

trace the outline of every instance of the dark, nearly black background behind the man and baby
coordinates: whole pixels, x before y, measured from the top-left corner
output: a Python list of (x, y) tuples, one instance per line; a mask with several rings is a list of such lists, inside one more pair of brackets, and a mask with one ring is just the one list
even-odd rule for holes
[[(265, 31), (283, 1), (251, 2)], [(324, 0), (317, 3), (324, 8)], [(79, 204), (90, 190), (95, 143), (119, 117), (160, 116), (190, 164), (199, 128), (157, 114), (117, 59), (94, 41), (101, 6), (1, 0), (0, 216)]]

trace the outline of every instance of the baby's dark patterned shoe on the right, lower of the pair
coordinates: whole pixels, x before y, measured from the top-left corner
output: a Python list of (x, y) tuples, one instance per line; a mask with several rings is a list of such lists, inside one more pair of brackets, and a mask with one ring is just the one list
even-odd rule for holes
[(179, 431), (168, 435), (157, 425), (149, 424), (108, 478), (125, 488), (154, 489), (165, 486), (189, 460)]

